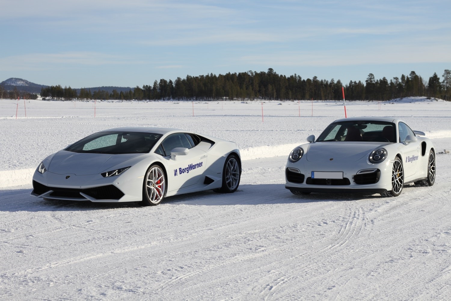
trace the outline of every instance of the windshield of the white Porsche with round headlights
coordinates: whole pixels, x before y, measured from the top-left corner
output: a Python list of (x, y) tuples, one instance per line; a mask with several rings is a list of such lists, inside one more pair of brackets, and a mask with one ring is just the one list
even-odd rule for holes
[(321, 141), (365, 141), (396, 142), (396, 126), (392, 122), (377, 120), (346, 120), (331, 123), (317, 142)]

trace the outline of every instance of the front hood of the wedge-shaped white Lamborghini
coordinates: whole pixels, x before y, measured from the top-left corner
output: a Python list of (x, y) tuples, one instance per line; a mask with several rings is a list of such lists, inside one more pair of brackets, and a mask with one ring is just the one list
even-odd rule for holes
[(78, 176), (93, 175), (140, 155), (143, 154), (129, 153), (111, 155), (102, 153), (73, 153), (62, 150), (55, 153), (50, 165), (46, 168), (48, 171), (60, 175), (68, 173)]

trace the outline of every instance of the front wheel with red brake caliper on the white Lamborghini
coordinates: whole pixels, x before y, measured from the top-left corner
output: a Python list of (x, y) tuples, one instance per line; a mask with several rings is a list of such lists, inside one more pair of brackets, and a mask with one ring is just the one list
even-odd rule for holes
[(155, 206), (161, 203), (166, 194), (166, 176), (159, 165), (152, 165), (147, 169), (143, 183), (144, 206)]

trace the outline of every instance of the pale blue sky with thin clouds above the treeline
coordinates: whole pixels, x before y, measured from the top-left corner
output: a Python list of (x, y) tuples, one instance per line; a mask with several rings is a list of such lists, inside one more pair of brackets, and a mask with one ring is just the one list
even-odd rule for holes
[(1, 0), (0, 82), (142, 87), (267, 71), (362, 82), (451, 69), (450, 0)]

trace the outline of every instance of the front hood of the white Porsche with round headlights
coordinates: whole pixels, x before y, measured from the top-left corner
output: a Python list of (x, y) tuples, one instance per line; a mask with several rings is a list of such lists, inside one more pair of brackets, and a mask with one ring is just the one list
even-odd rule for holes
[(367, 156), (374, 148), (381, 146), (374, 143), (361, 142), (317, 142), (308, 144), (307, 161), (324, 162), (324, 160), (339, 160), (355, 162)]

